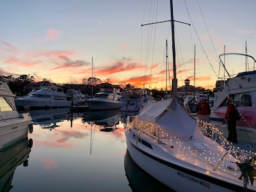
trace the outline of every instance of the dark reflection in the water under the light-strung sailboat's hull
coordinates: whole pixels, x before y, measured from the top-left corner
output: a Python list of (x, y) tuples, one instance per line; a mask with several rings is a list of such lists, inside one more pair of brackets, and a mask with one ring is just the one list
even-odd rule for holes
[[(124, 167), (127, 180), (129, 180), (129, 186), (132, 191), (173, 191), (161, 182), (157, 181), (147, 173), (145, 173), (141, 168), (139, 168), (134, 161), (132, 161), (131, 156), (126, 150), (124, 158)], [(170, 179), (171, 180), (171, 179)]]

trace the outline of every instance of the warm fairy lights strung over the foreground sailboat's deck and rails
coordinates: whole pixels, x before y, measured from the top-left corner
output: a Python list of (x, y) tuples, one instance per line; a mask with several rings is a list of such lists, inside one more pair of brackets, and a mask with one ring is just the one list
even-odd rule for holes
[[(127, 121), (129, 122), (129, 121)], [(143, 134), (146, 134), (147, 136), (150, 136), (154, 138), (154, 142), (161, 143), (162, 148), (164, 151), (173, 151), (173, 148), (175, 148), (175, 152), (177, 152), (177, 158), (182, 159), (183, 161), (193, 159), (194, 164), (205, 164), (205, 168), (207, 169), (206, 173), (209, 174), (212, 170), (216, 170), (216, 172), (228, 172), (230, 173), (230, 169), (227, 169), (227, 165), (230, 161), (234, 161), (232, 159), (232, 155), (228, 154), (225, 156), (225, 153), (227, 151), (234, 151), (237, 150), (241, 152), (247, 152), (247, 150), (241, 150), (240, 148), (234, 147), (232, 143), (227, 141), (223, 137), (223, 133), (220, 132), (217, 128), (215, 128), (211, 124), (202, 124), (200, 126), (200, 129), (204, 134), (207, 134), (209, 138), (213, 141), (220, 141), (220, 146), (218, 148), (220, 149), (219, 152), (217, 151), (209, 151), (207, 150), (207, 147), (205, 148), (204, 145), (200, 147), (193, 147), (191, 143), (189, 143), (186, 140), (180, 140), (179, 138), (176, 138), (175, 136), (170, 136), (168, 133), (164, 132), (163, 129), (161, 129), (161, 126), (156, 123), (152, 122), (146, 122), (138, 120), (138, 118), (134, 118), (133, 125), (131, 126), (135, 130), (138, 130), (137, 132), (141, 132)], [(139, 134), (139, 133), (138, 133)], [(222, 148), (225, 148), (225, 150), (221, 150)], [(237, 162), (243, 162), (246, 160), (246, 156), (243, 156), (241, 154), (234, 153), (233, 156), (237, 158)], [(191, 160), (189, 160), (191, 161)], [(233, 162), (233, 163), (237, 163)], [(217, 167), (215, 167), (218, 164)], [(256, 168), (256, 161), (253, 159), (252, 166)], [(211, 171), (209, 171), (211, 170)], [(234, 170), (233, 170), (234, 171)], [(233, 175), (240, 174), (239, 169), (232, 173)]]

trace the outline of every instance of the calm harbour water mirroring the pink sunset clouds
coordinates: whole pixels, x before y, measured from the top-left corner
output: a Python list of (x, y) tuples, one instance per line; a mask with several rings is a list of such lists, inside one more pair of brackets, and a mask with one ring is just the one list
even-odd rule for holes
[[(33, 140), (33, 145), (30, 152), (26, 150), (27, 164), (14, 169), (11, 191), (168, 190), (141, 172), (126, 154), (120, 118), (125, 114), (103, 111), (71, 115), (68, 111), (31, 111), (35, 125), (28, 140)], [(116, 120), (116, 127), (104, 129)], [(28, 140), (17, 147), (22, 148)]]

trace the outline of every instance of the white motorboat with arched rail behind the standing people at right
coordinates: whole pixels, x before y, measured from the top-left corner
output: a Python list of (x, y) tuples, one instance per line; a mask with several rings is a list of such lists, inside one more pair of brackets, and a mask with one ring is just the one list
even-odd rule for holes
[[(221, 56), (220, 55), (220, 61)], [(252, 56), (239, 53), (226, 53), (225, 55), (239, 55), (252, 58)], [(228, 72), (227, 72), (228, 73)], [(232, 96), (232, 102), (240, 114), (240, 120), (237, 121), (237, 139), (246, 143), (256, 145), (256, 70), (246, 71), (230, 76), (221, 92), (214, 93), (214, 105), (211, 111), (211, 121), (218, 125), (220, 131), (227, 136), (227, 126), (225, 114), (227, 111), (227, 99)], [(218, 124), (219, 123), (219, 124)]]

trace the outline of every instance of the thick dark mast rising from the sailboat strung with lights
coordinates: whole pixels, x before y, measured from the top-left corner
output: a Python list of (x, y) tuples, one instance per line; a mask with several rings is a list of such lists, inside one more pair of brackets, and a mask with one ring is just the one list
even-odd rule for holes
[(177, 77), (176, 77), (176, 52), (175, 52), (175, 38), (174, 38), (174, 19), (173, 19), (173, 2), (170, 0), (171, 9), (171, 24), (172, 24), (172, 58), (173, 58), (173, 97), (177, 97)]

